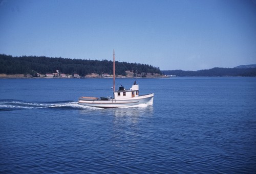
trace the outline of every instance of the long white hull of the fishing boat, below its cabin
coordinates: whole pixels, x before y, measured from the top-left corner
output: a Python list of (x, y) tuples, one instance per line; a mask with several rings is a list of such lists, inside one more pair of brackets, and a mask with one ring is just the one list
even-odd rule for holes
[(146, 104), (148, 106), (153, 105), (154, 93), (140, 95), (126, 99), (110, 99), (110, 100), (87, 100), (86, 98), (80, 97), (78, 103), (84, 106), (98, 107), (98, 108), (120, 108), (136, 106), (140, 104)]

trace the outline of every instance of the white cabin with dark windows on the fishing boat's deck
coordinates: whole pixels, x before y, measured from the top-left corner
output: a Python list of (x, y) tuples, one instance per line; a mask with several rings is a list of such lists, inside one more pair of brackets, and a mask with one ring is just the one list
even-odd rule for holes
[(139, 96), (139, 85), (133, 85), (130, 90), (124, 89), (123, 86), (119, 87), (118, 91), (114, 91), (114, 99), (127, 99)]

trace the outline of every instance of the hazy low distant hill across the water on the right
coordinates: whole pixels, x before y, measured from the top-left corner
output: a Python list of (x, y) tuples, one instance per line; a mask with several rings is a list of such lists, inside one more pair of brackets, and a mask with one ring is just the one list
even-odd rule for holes
[(207, 76), (207, 77), (223, 77), (223, 76), (243, 76), (256, 77), (256, 67), (254, 68), (212, 68), (198, 71), (183, 70), (162, 70), (163, 74), (179, 77)]

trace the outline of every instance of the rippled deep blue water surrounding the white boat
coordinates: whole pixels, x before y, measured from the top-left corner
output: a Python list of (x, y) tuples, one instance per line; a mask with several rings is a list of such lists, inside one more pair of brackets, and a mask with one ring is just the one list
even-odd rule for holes
[(153, 106), (77, 104), (112, 79), (0, 79), (0, 173), (256, 173), (256, 78), (137, 83)]

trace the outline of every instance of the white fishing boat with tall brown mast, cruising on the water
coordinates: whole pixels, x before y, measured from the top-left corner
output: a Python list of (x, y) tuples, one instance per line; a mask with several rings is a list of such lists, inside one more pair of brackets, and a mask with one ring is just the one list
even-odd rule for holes
[(139, 85), (134, 82), (130, 89), (125, 89), (122, 85), (115, 90), (115, 50), (113, 54), (113, 97), (90, 97), (82, 96), (78, 104), (98, 108), (120, 108), (130, 107), (140, 104), (153, 105), (154, 93), (139, 95)]

